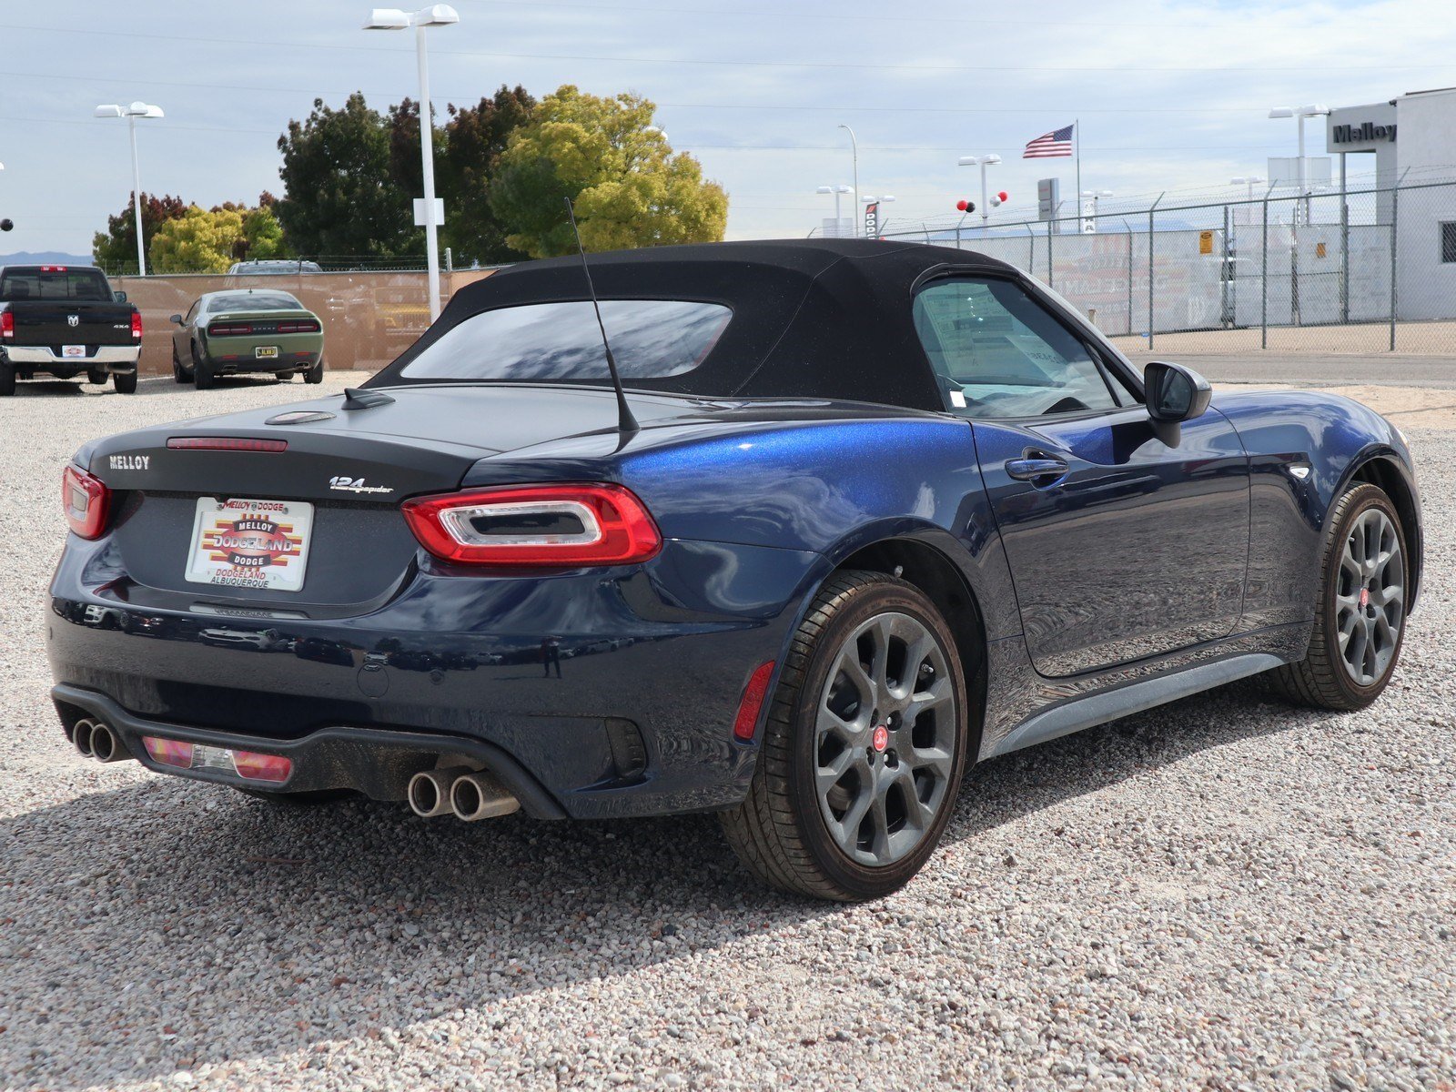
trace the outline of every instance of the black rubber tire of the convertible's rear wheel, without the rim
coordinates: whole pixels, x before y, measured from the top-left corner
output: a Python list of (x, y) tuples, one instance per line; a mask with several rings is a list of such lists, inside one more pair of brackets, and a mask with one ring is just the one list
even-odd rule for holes
[[(860, 798), (878, 792), (860, 782), (862, 775), (856, 772), (860, 767), (872, 779), (885, 778), (885, 783), (893, 783), (897, 776), (909, 773), (914, 792), (922, 792), (919, 767), (913, 760), (904, 761), (904, 773), (901, 773), (897, 748), (909, 748), (907, 754), (916, 753), (910, 748), (910, 732), (913, 731), (916, 737), (920, 735), (922, 729), (916, 725), (922, 724), (925, 716), (911, 724), (901, 721), (898, 712), (885, 713), (881, 709), (872, 709), (871, 716), (862, 718), (866, 725), (871, 725), (866, 738), (874, 741), (871, 747), (865, 748), (863, 763), (859, 761), (860, 748), (858, 744), (840, 745), (839, 738), (830, 738), (827, 734), (821, 738), (817, 728), (821, 703), (828, 706), (836, 700), (840, 684), (847, 680), (847, 673), (837, 667), (842, 654), (855, 649), (853, 655), (858, 661), (860, 657), (858, 649), (863, 645), (853, 644), (856, 635), (860, 635), (860, 630), (872, 625), (874, 620), (885, 616), (909, 616), (910, 622), (919, 623), (920, 630), (933, 641), (936, 658), (943, 665), (943, 671), (938, 673), (929, 658), (923, 657), (922, 662), (909, 667), (909, 661), (903, 658), (901, 652), (901, 661), (895, 670), (914, 671), (916, 680), (929, 680), (927, 686), (946, 695), (946, 697), (938, 699), (939, 702), (951, 702), (949, 708), (936, 706), (933, 712), (932, 731), (936, 734), (936, 748), (949, 750), (949, 759), (939, 763), (945, 767), (943, 772), (933, 773), (930, 778), (933, 780), (930, 792), (935, 810), (929, 821), (923, 821), (920, 827), (909, 826), (910, 802), (904, 792), (895, 788), (890, 789), (891, 795), (881, 798), (879, 812), (871, 805), (868, 811), (856, 812), (862, 815), (858, 821), (850, 818), (850, 812), (855, 811)], [(859, 639), (862, 641), (863, 635)], [(890, 639), (885, 641), (885, 646), (891, 648)], [(891, 654), (887, 652), (887, 662), (891, 658)], [(865, 673), (862, 671), (862, 674)], [(871, 670), (868, 674), (877, 673)], [(888, 667), (884, 674), (888, 677)], [(942, 687), (936, 680), (948, 681), (949, 686)], [(852, 689), (855, 686), (852, 683)], [(919, 683), (911, 687), (911, 692), (922, 693)], [(847, 706), (855, 713), (856, 721), (860, 719), (862, 700), (859, 695), (862, 693), (863, 690), (856, 690)], [(888, 687), (882, 693), (888, 695)], [(783, 891), (837, 901), (860, 901), (888, 895), (920, 871), (949, 821), (965, 770), (970, 708), (967, 702), (965, 678), (955, 638), (925, 593), (913, 584), (879, 572), (846, 571), (834, 575), (814, 598), (808, 614), (794, 635), (788, 657), (780, 668), (748, 796), (735, 811), (721, 814), (728, 843), (759, 878)], [(885, 731), (884, 737), (881, 727), (874, 727), (874, 722), (881, 716), (884, 716), (884, 727), (890, 729)], [(894, 748), (887, 748), (885, 737)], [(826, 744), (833, 744), (828, 763), (847, 759), (850, 766), (834, 780), (833, 788), (821, 799), (815, 772), (818, 766), (826, 763)], [(946, 744), (948, 747), (945, 747)], [(850, 802), (836, 817), (834, 794), (844, 794), (846, 779), (852, 786), (856, 786), (850, 792), (859, 792), (859, 796), (842, 795), (842, 799)], [(874, 824), (878, 824), (879, 814), (891, 811), (891, 796), (898, 798), (906, 815), (897, 831), (887, 833), (885, 844), (893, 837), (900, 837), (907, 831), (911, 839), (907, 849), (887, 863), (865, 863), (852, 856), (852, 850), (846, 849), (842, 842), (850, 840), (847, 834), (853, 831), (856, 843), (853, 852), (862, 856), (872, 855), (877, 842)], [(831, 831), (830, 818), (826, 818), (826, 814), (843, 823), (839, 836)], [(868, 840), (863, 836), (865, 823), (872, 824)], [(891, 826), (893, 823), (887, 821), (884, 830), (890, 831)], [(914, 840), (916, 837), (917, 840)]]

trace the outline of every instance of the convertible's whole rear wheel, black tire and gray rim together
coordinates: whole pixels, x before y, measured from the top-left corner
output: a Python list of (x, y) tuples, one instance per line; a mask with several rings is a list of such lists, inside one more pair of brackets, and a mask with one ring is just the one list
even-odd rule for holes
[(783, 891), (895, 891), (941, 840), (967, 764), (955, 635), (914, 584), (843, 571), (814, 597), (778, 680), (748, 794), (719, 815), (728, 843)]

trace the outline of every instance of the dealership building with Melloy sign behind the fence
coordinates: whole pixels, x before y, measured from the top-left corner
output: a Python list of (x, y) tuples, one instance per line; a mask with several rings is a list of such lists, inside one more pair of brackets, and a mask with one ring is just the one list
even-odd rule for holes
[(1395, 226), (1399, 317), (1456, 317), (1456, 87), (1332, 109), (1325, 150), (1341, 182), (1369, 176), (1374, 157), (1374, 218)]

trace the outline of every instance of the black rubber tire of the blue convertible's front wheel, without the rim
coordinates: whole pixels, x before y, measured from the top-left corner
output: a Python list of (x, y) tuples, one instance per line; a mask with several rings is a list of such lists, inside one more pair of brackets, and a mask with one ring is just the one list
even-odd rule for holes
[[(1347, 547), (1356, 542), (1357, 529), (1379, 523), (1379, 515), (1372, 517), (1370, 513), (1383, 515), (1388, 526), (1393, 529), (1399, 545), (1399, 565), (1396, 566), (1395, 559), (1392, 559), (1386, 562), (1380, 574), (1369, 579), (1383, 585), (1382, 593), (1379, 593), (1382, 600), (1388, 594), (1388, 578), (1399, 581), (1396, 587), (1401, 597), (1398, 604), (1382, 601), (1376, 606), (1372, 601), (1374, 597), (1369, 594), (1370, 588), (1364, 587), (1363, 582), (1356, 582), (1354, 587), (1363, 588), (1363, 593), (1351, 607), (1351, 588), (1348, 587), (1351, 571)], [(1401, 648), (1405, 642), (1405, 588), (1409, 587), (1409, 575), (1405, 529), (1401, 526), (1401, 515), (1390, 498), (1379, 486), (1353, 485), (1335, 502), (1325, 529), (1325, 543), (1319, 559), (1319, 601), (1315, 607), (1315, 629), (1309, 639), (1309, 652), (1297, 664), (1286, 664), (1270, 671), (1267, 678), (1273, 689), (1296, 705), (1315, 709), (1351, 711), (1370, 705), (1389, 684), (1401, 658)], [(1364, 628), (1361, 613), (1372, 620), (1374, 630), (1383, 629), (1385, 632), (1390, 630), (1392, 614), (1398, 613), (1393, 644), (1386, 644), (1382, 648), (1380, 641), (1373, 633), (1364, 638), (1366, 644), (1374, 648), (1377, 657), (1383, 658), (1388, 651), (1388, 661), (1380, 665), (1379, 671), (1369, 673), (1369, 681), (1356, 678), (1356, 670), (1363, 670), (1363, 667), (1348, 662), (1348, 646), (1340, 644), (1341, 628), (1350, 626), (1351, 620)], [(1380, 625), (1382, 616), (1383, 626)], [(1363, 655), (1353, 658), (1360, 658), (1363, 665), (1369, 665)]]

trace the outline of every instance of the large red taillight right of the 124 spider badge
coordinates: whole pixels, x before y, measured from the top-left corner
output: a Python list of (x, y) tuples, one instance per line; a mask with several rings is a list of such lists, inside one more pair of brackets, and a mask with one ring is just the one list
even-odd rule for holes
[(662, 536), (620, 485), (530, 485), (416, 496), (403, 504), (419, 543), (467, 565), (628, 565)]

